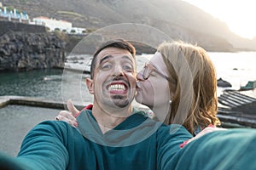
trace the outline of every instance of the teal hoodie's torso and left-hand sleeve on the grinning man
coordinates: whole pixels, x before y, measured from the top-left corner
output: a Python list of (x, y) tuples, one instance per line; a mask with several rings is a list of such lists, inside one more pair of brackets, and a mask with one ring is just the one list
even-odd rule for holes
[(190, 133), (180, 125), (167, 127), (136, 111), (102, 134), (91, 111), (83, 111), (79, 128), (48, 121), (32, 129), (16, 161), (26, 169), (160, 169)]

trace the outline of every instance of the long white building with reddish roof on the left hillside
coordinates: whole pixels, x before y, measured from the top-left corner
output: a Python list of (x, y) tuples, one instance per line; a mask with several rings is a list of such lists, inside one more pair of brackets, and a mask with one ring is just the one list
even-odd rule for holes
[(46, 26), (50, 31), (55, 31), (55, 29), (59, 29), (60, 31), (72, 30), (72, 23), (67, 20), (55, 20), (49, 19), (48, 17), (39, 16), (37, 18), (33, 18), (30, 24)]

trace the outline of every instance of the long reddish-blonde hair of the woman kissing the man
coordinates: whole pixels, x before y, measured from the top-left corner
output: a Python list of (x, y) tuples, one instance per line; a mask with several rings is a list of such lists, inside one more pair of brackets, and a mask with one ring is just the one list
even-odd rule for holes
[(183, 124), (190, 133), (198, 127), (219, 125), (216, 71), (207, 52), (184, 42), (164, 42), (158, 52), (172, 78), (171, 112), (166, 123)]

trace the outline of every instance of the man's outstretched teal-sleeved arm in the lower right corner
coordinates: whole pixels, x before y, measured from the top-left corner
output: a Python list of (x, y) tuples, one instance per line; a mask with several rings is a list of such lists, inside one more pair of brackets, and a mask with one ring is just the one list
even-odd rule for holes
[(255, 169), (256, 130), (207, 133), (185, 145), (160, 169)]

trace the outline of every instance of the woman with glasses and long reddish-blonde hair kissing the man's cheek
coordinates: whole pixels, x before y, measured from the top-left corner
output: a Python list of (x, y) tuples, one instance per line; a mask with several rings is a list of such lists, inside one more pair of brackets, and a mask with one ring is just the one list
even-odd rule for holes
[[(164, 42), (137, 74), (138, 103), (147, 105), (157, 119), (183, 124), (194, 135), (208, 125), (219, 125), (217, 78), (207, 52), (184, 42)], [(77, 126), (71, 101), (57, 120)]]

